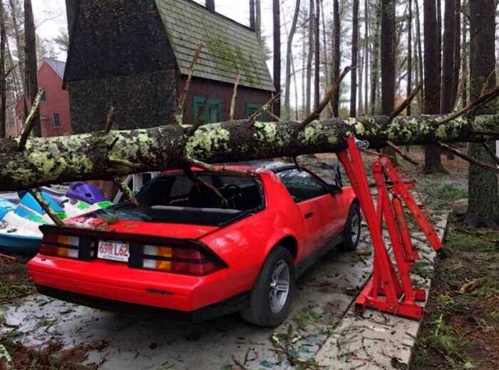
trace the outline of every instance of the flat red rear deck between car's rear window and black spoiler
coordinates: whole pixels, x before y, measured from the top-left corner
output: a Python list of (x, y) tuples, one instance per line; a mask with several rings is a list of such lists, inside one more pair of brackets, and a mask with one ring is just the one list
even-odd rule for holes
[(119, 232), (123, 234), (170, 237), (175, 239), (200, 239), (220, 229), (216, 226), (184, 225), (139, 220), (113, 220), (100, 217), (76, 217), (65, 222), (66, 227), (95, 230), (96, 232)]

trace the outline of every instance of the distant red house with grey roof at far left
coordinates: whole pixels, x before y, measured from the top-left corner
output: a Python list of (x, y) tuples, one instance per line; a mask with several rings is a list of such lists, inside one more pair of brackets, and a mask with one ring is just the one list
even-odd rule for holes
[[(66, 63), (46, 59), (38, 67), (38, 86), (45, 88), (45, 95), (40, 103), (41, 135), (71, 135), (71, 113), (69, 94), (63, 90), (63, 78)], [(21, 97), (15, 108), (14, 126), (7, 125), (7, 136), (17, 136), (24, 124), (24, 97)]]

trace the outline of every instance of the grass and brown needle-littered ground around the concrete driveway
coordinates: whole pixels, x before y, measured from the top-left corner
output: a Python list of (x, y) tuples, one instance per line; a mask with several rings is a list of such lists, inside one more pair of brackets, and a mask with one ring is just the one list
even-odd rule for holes
[[(411, 149), (409, 155), (423, 163), (423, 153), (420, 150)], [(319, 160), (303, 158), (300, 161), (327, 180), (327, 176), (331, 174), (324, 163), (329, 163), (332, 158), (331, 155), (319, 155)], [(365, 157), (368, 174), (371, 173), (371, 159), (372, 157)], [(443, 165), (448, 174), (423, 175), (406, 163), (401, 168), (401, 173), (406, 175), (404, 177), (416, 178), (424, 202), (429, 209), (438, 213), (450, 212), (454, 201), (467, 197), (468, 165), (458, 159), (449, 161), (446, 158), (443, 159)], [(499, 234), (465, 230), (456, 218), (451, 217), (446, 235), (446, 250), (450, 252), (448, 259), (438, 261), (435, 266), (426, 318), (416, 342), (411, 366), (418, 370), (497, 369)], [(339, 257), (334, 258), (337, 260)], [(25, 297), (37, 299), (34, 294), (36, 290), (26, 274), (25, 264), (24, 258), (12, 259), (0, 255), (0, 307), (15, 306)], [(465, 289), (463, 294), (459, 292), (461, 288)], [(299, 324), (299, 318), (299, 314), (294, 317), (295, 324)], [(322, 324), (319, 319), (307, 320), (309, 324), (317, 324), (316, 327)], [(46, 317), (41, 317), (39, 322), (40, 328), (46, 328), (47, 332), (56, 326), (55, 320), (51, 322)], [(231, 321), (231, 324), (234, 323)], [(2, 325), (5, 327), (8, 323), (0, 311), (0, 327)], [(12, 327), (0, 335), (0, 370), (3, 370), (1, 346), (9, 351), (16, 369), (20, 370), (69, 369), (64, 364), (79, 363), (86, 359), (88, 353), (103, 351), (108, 346), (103, 340), (88, 341), (84, 345), (76, 343), (74, 346), (65, 346), (61, 352), (61, 344), (55, 338), (54, 341), (48, 340), (43, 346), (33, 349), (20, 340), (22, 334), (16, 331), (16, 327)], [(152, 347), (150, 349), (153, 350)], [(57, 354), (57, 358), (53, 354)], [(248, 367), (250, 368), (252, 369)], [(237, 369), (237, 366), (233, 369)]]

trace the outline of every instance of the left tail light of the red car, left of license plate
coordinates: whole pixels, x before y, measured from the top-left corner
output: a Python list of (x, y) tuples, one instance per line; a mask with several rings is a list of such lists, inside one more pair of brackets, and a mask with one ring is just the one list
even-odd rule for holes
[(72, 235), (43, 235), (40, 254), (73, 259), (91, 259), (95, 256), (93, 242)]

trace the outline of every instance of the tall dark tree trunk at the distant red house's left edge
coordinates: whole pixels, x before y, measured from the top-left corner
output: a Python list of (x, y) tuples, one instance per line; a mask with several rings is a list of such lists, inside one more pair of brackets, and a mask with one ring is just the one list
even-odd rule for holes
[[(26, 56), (24, 66), (24, 71), (26, 73), (26, 91), (24, 91), (24, 96), (26, 96), (25, 111), (29, 111), (29, 108), (31, 108), (31, 103), (34, 101), (34, 98), (38, 93), (36, 31), (31, 0), (24, 0), (24, 45), (24, 55)], [(28, 104), (26, 104), (26, 102)], [(37, 114), (34, 118), (33, 133), (35, 136), (41, 136), (41, 123), (39, 114)]]

